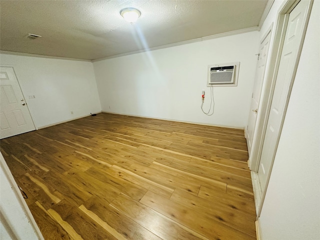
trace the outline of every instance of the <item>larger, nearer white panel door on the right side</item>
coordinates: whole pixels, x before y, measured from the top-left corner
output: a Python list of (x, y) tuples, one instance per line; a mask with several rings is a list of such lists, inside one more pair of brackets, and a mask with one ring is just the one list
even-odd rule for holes
[[(309, 1), (300, 1), (289, 14), (258, 168), (262, 191), (265, 189), (271, 170), (280, 128), (293, 83), (292, 79), (298, 61), (308, 6)], [(301, 122), (302, 124), (303, 122)]]

